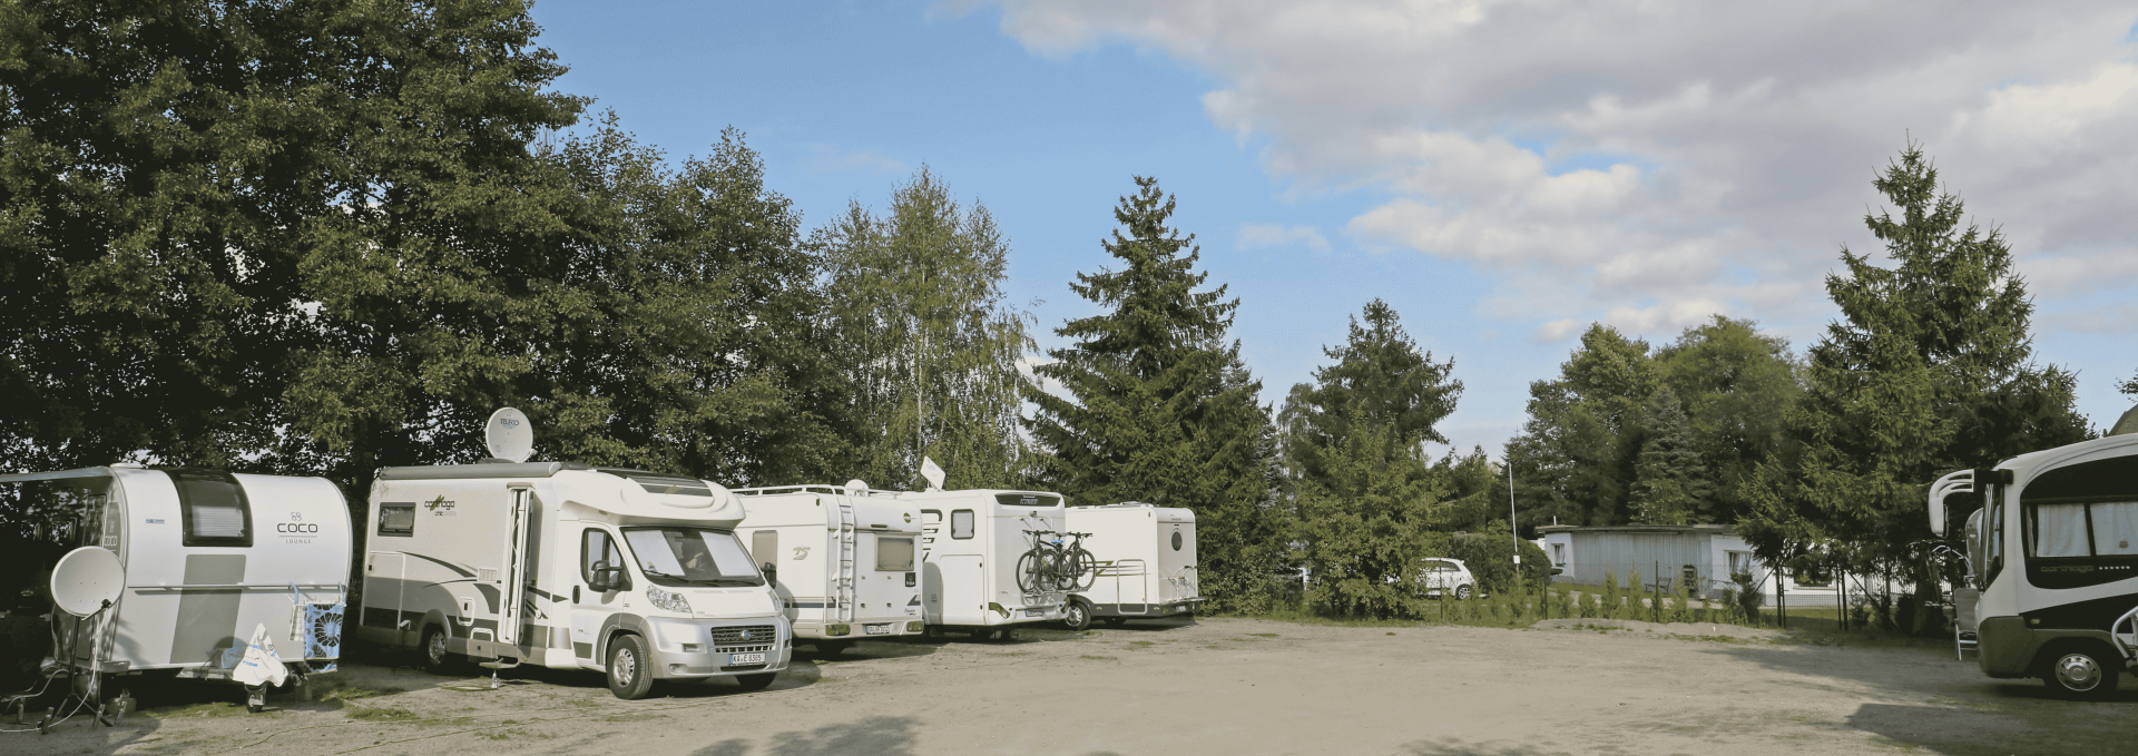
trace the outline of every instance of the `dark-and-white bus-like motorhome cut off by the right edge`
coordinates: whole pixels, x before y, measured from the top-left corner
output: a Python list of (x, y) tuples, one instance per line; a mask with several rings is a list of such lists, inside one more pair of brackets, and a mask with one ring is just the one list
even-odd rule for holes
[[(1954, 493), (1982, 502), (1961, 527), (1946, 508)], [(1967, 547), (1971, 589), (1954, 589), (1963, 653), (1988, 677), (2112, 694), (2138, 660), (2138, 434), (1952, 472), (1928, 504), (1931, 530), (1961, 530)]]

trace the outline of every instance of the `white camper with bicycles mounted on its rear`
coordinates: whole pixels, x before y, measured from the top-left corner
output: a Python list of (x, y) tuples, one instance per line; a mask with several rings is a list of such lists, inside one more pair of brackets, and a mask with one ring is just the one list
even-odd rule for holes
[[(1009, 626), (1056, 621), (1067, 594), (1018, 585), (1018, 560), (1063, 532), (1060, 493), (900, 491), (921, 515), (921, 613), (930, 634), (964, 632), (988, 641)], [(1031, 562), (1031, 560), (1026, 560)]]

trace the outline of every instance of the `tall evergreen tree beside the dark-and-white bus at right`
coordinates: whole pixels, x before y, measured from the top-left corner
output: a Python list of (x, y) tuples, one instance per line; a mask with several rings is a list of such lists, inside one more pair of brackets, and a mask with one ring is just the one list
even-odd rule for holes
[(2003, 235), (1961, 226), (1918, 145), (1873, 186), (1901, 211), (1864, 218), (1892, 265), (1843, 250), (1845, 275), (1826, 278), (1841, 320), (1811, 348), (1787, 421), (1802, 451), (1757, 468), (1740, 530), (1770, 560), (1826, 547), (1854, 572), (1928, 581), (1911, 557), (1928, 538), (1924, 485), (2087, 429), (2074, 376), (2031, 361), (2033, 303)]

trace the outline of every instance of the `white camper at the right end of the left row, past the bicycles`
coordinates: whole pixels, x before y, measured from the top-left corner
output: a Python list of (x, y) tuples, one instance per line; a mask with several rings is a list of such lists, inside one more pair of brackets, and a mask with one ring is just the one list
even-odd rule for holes
[(1090, 628), (1093, 619), (1122, 624), (1133, 617), (1195, 613), (1195, 513), (1140, 502), (1071, 506), (1069, 532), (1093, 553), (1099, 570), (1069, 594), (1063, 624)]

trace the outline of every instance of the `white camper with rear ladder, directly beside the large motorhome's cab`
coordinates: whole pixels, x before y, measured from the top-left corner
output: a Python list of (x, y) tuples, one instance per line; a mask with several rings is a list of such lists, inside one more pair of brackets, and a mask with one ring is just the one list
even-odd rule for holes
[(774, 581), (795, 641), (838, 653), (859, 639), (924, 632), (921, 513), (866, 485), (735, 489), (735, 534)]

